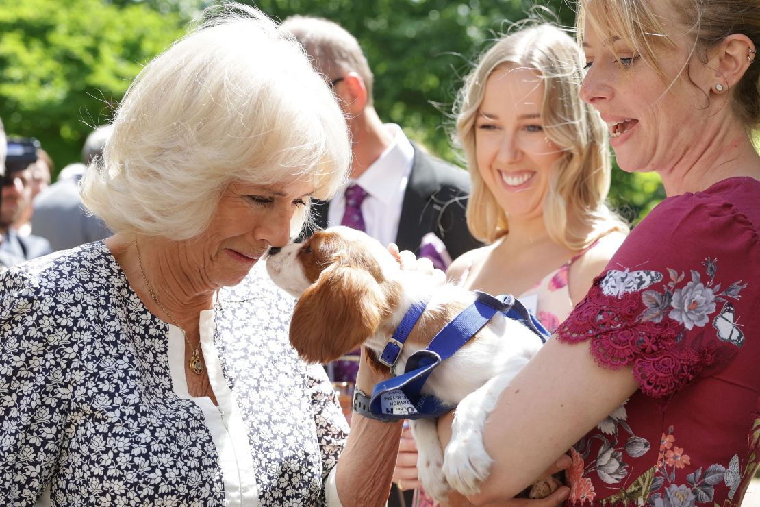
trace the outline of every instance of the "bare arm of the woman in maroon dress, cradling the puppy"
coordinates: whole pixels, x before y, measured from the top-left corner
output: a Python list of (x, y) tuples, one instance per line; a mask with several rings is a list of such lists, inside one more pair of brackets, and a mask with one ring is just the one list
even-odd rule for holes
[(521, 493), (637, 388), (630, 366), (602, 368), (588, 342), (549, 340), (486, 421), (483, 441), (494, 462), (480, 494), (470, 501), (488, 505)]

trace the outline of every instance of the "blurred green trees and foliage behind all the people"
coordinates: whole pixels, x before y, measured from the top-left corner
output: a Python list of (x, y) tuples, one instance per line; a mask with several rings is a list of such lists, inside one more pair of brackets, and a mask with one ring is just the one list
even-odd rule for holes
[[(40, 140), (56, 172), (109, 121), (131, 79), (181, 36), (204, 0), (0, 0), (0, 117), (9, 135)], [(472, 62), (538, 11), (565, 27), (567, 0), (261, 0), (272, 17), (327, 17), (353, 33), (375, 74), (375, 107), (429, 151), (460, 163), (451, 105)], [(611, 204), (639, 220), (664, 197), (654, 174), (613, 173)]]

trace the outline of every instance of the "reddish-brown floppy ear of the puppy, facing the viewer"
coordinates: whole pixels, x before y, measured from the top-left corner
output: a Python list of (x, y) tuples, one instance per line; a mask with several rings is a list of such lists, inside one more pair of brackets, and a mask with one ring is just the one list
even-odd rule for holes
[(310, 363), (328, 363), (372, 336), (384, 308), (385, 297), (369, 273), (328, 268), (296, 303), (290, 343)]

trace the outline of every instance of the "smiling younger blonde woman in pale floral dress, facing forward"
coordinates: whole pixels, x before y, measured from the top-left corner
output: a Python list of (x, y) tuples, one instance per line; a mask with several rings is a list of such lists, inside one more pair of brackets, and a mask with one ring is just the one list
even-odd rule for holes
[(606, 207), (606, 128), (581, 103), (581, 53), (549, 24), (504, 36), (467, 76), (457, 135), (473, 182), (467, 224), (488, 246), (448, 270), (512, 293), (549, 331), (569, 315), (627, 227)]

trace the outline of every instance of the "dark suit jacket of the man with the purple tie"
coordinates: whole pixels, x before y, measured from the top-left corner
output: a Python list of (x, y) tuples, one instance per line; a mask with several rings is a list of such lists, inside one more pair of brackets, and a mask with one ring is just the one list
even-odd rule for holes
[[(429, 232), (442, 239), (452, 259), (481, 246), (470, 236), (464, 217), (470, 176), (450, 163), (431, 157), (416, 144), (412, 145), (414, 159), (401, 205), (396, 236), (398, 248), (416, 253), (423, 236)], [(326, 201), (312, 204), (312, 214), (320, 229), (328, 225), (329, 204)]]

